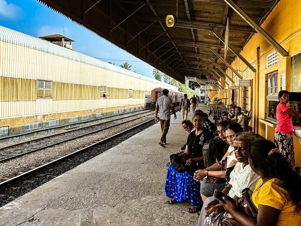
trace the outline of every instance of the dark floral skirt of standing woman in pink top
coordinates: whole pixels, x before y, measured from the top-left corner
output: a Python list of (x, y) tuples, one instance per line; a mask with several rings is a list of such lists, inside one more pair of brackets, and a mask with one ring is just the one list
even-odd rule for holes
[(283, 132), (275, 132), (274, 143), (283, 157), (288, 161), (291, 168), (296, 170), (293, 135)]

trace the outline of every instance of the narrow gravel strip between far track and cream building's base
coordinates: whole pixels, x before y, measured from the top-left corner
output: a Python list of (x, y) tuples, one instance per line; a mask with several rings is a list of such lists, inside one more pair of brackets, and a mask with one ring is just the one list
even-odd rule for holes
[[(141, 113), (150, 113), (152, 110), (145, 110), (145, 111), (141, 111)], [(99, 121), (94, 121), (94, 122), (88, 122), (86, 124), (83, 124), (83, 125), (80, 125), (80, 126), (73, 126), (73, 127), (70, 127), (70, 128), (66, 128), (66, 129), (61, 129), (61, 130), (57, 130), (57, 131), (53, 131), (53, 132), (46, 132), (45, 130), (45, 133), (43, 134), (40, 134), (40, 135), (35, 135), (35, 136), (32, 136), (32, 137), (25, 137), (25, 138), (22, 138), (22, 139), (18, 139), (18, 140), (14, 140), (14, 141), (9, 141), (9, 142), (5, 142), (5, 143), (0, 143), (0, 148), (3, 148), (3, 147), (6, 147), (8, 145), (12, 145), (12, 144), (17, 144), (17, 143), (20, 143), (20, 142), (24, 142), (24, 141), (31, 141), (33, 139), (36, 139), (36, 138), (43, 138), (43, 137), (48, 137), (49, 135), (54, 135), (54, 134), (57, 134), (57, 133), (61, 133), (61, 132), (66, 132), (68, 130), (71, 130), (71, 129), (74, 129), (74, 128), (82, 128), (84, 126), (92, 126), (92, 125), (95, 125), (95, 124), (99, 124), (101, 122), (106, 122), (106, 121), (110, 121), (112, 119), (118, 119), (119, 117), (124, 117), (124, 116), (132, 116), (132, 115), (135, 115), (137, 114), (138, 112), (133, 112), (132, 114), (128, 114), (128, 115), (117, 115), (117, 116), (112, 116), (111, 118), (107, 118), (107, 119), (103, 119), (103, 120), (99, 120)], [(142, 114), (141, 114), (142, 116)], [(138, 116), (137, 116), (138, 117)]]

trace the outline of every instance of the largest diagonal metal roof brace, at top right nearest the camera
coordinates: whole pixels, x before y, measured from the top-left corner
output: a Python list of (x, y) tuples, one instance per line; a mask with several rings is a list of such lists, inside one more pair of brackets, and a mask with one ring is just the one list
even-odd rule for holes
[[(232, 0), (224, 0), (231, 8), (234, 9), (238, 15), (241, 16), (254, 30), (258, 32), (271, 46), (273, 46), (282, 56), (288, 56), (288, 51), (286, 51), (275, 39), (272, 38), (264, 29), (255, 23), (236, 3)], [(254, 71), (255, 72), (255, 71)]]

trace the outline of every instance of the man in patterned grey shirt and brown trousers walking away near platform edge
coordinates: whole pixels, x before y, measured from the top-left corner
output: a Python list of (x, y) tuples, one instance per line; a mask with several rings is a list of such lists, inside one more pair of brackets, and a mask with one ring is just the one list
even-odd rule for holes
[(169, 129), (170, 122), (170, 110), (174, 114), (174, 119), (177, 119), (175, 108), (173, 107), (172, 99), (168, 97), (168, 89), (163, 89), (162, 96), (157, 99), (156, 103), (156, 111), (155, 111), (155, 121), (158, 122), (158, 111), (160, 116), (160, 124), (161, 124), (161, 138), (159, 144), (165, 148), (166, 144), (166, 134)]

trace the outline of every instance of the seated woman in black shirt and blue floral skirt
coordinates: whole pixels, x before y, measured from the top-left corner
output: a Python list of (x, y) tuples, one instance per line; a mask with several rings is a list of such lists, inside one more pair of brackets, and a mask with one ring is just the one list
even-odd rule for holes
[(202, 169), (203, 163), (203, 144), (214, 137), (214, 135), (203, 127), (203, 114), (195, 112), (193, 115), (193, 125), (195, 131), (191, 132), (187, 138), (185, 152), (186, 165), (189, 166), (184, 173), (177, 172), (172, 164), (169, 164), (164, 191), (166, 196), (171, 198), (168, 203), (173, 204), (190, 200), (191, 207), (188, 212), (195, 213), (202, 206), (200, 197), (200, 182), (193, 180), (193, 172)]

